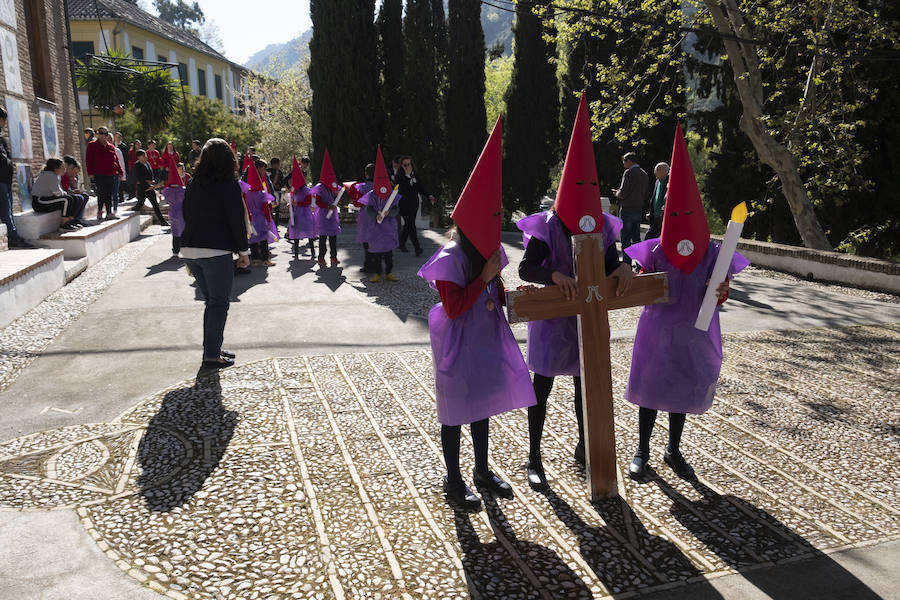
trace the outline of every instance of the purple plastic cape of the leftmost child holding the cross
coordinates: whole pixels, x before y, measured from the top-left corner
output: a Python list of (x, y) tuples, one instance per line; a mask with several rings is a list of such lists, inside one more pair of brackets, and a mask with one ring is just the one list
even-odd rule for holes
[[(501, 253), (502, 268), (509, 260), (502, 247)], [(471, 279), (468, 270), (466, 255), (456, 242), (450, 242), (419, 269), (419, 277), (433, 288), (436, 281), (465, 287)], [(443, 304), (435, 304), (428, 313), (438, 421), (443, 425), (474, 423), (536, 403), (528, 367), (497, 288), (496, 282), (485, 288), (456, 319), (447, 316)], [(487, 309), (488, 299), (494, 303), (493, 310)]]

